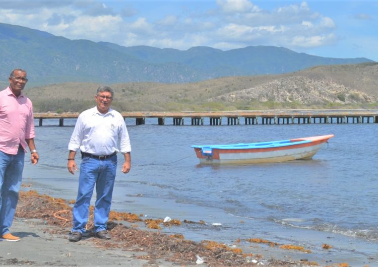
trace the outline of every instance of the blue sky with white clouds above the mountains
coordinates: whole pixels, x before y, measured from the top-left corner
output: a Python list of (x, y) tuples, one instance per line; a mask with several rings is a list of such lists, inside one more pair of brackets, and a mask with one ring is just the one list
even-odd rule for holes
[(376, 0), (0, 0), (0, 23), (123, 46), (273, 45), (378, 61)]

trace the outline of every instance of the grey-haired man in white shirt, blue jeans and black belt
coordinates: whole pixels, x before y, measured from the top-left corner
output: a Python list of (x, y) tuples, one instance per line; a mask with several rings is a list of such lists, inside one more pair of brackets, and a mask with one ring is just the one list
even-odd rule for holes
[[(75, 155), (80, 149), (79, 188), (73, 209), (73, 228), (69, 241), (77, 242), (85, 233), (89, 216), (89, 206), (96, 185), (94, 227), (96, 237), (110, 239), (106, 230), (109, 219), (111, 198), (117, 168), (117, 153), (124, 156), (122, 172), (131, 167), (131, 145), (129, 133), (122, 115), (111, 109), (114, 91), (100, 86), (95, 96), (96, 107), (83, 111), (76, 122), (68, 145), (68, 170), (74, 174), (78, 170)], [(119, 140), (120, 149), (117, 142)]]

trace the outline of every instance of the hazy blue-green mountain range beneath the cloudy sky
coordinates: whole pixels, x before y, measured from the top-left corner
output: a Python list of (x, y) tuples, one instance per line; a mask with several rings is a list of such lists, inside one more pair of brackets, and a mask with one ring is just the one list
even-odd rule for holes
[(292, 73), (311, 66), (374, 62), (331, 58), (284, 47), (248, 46), (222, 51), (192, 47), (182, 51), (109, 42), (70, 40), (48, 32), (0, 23), (0, 85), (14, 68), (28, 72), (28, 87), (65, 82), (191, 83), (220, 77)]

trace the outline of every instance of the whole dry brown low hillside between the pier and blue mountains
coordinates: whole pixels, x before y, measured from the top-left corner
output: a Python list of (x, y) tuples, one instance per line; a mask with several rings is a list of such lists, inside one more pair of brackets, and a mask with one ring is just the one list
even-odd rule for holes
[[(95, 105), (98, 83), (26, 88), (35, 111), (80, 112)], [(377, 108), (378, 63), (316, 66), (282, 75), (227, 77), (186, 84), (117, 83), (119, 111)]]

